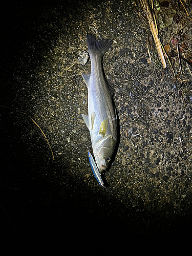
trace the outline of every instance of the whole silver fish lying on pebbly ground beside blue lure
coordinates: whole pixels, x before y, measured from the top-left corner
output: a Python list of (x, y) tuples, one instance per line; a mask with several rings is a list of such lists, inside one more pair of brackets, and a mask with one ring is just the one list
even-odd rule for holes
[(102, 58), (113, 40), (97, 40), (87, 35), (91, 73), (82, 74), (88, 88), (88, 116), (81, 114), (91, 136), (93, 154), (99, 171), (108, 168), (117, 142), (117, 114), (112, 98), (114, 87), (105, 78)]

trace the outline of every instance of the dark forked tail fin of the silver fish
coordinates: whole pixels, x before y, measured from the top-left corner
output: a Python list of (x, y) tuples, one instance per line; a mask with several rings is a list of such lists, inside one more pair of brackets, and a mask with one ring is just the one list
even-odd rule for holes
[(90, 56), (94, 53), (100, 54), (101, 57), (112, 46), (113, 40), (102, 39), (97, 41), (94, 35), (87, 34), (87, 44)]

